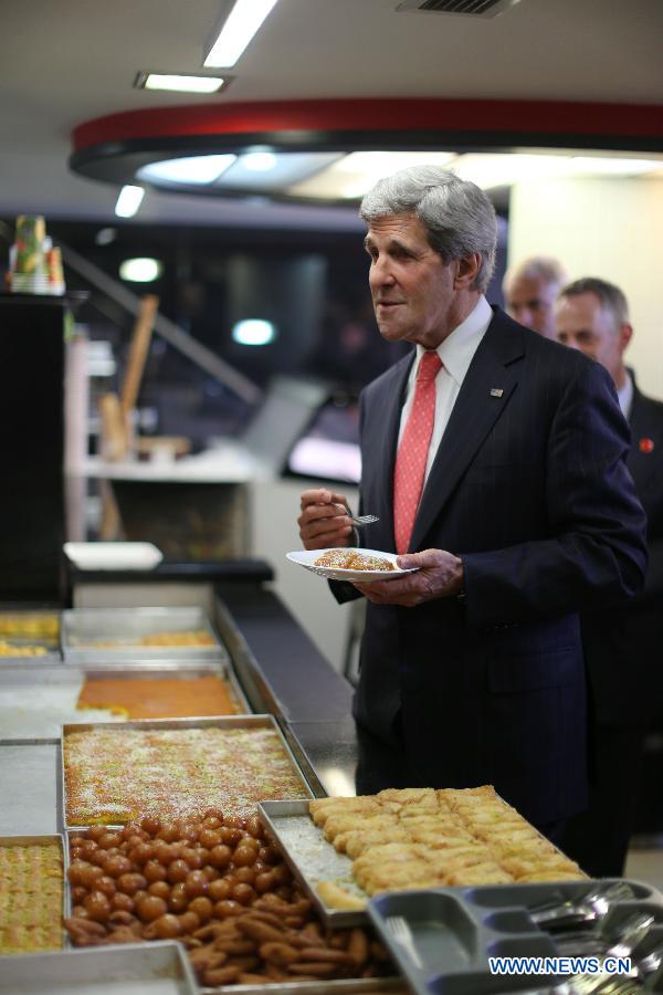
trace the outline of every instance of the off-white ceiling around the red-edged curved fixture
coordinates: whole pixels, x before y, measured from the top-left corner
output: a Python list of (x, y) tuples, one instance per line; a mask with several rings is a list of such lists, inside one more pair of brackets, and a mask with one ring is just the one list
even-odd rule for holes
[[(228, 91), (192, 98), (134, 90), (134, 77), (198, 72), (223, 0), (2, 0), (0, 213), (112, 219), (117, 189), (66, 160), (76, 125), (123, 111), (351, 96), (663, 103), (663, 0), (520, 0), (494, 19), (396, 7), (280, 0)], [(138, 222), (336, 228), (354, 217), (148, 192)]]

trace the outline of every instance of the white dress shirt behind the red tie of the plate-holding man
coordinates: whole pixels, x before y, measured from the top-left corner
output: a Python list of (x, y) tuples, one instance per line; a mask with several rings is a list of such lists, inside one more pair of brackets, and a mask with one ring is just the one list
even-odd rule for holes
[[(444, 342), (438, 346), (438, 355), (442, 360), (442, 369), (435, 377), (435, 421), (433, 423), (433, 434), (431, 436), (431, 444), (429, 446), (428, 460), (425, 464), (425, 475), (423, 482), (428, 480), (428, 475), (433, 465), (438, 447), (444, 434), (444, 430), (449, 425), (453, 406), (455, 405), (459, 390), (463, 386), (465, 374), (470, 369), (470, 364), (474, 358), (474, 354), (478, 348), (478, 344), (486, 334), (487, 327), (493, 320), (491, 305), (484, 296), (478, 298), (478, 303), (474, 311), (467, 315), (465, 321), (454, 328), (451, 335), (448, 335)], [(398, 444), (403, 434), (403, 430), (414, 398), (414, 383), (419, 364), (425, 349), (423, 346), (417, 346), (417, 358), (412, 364), (408, 385), (406, 388), (406, 402), (401, 411), (400, 428), (398, 433)]]

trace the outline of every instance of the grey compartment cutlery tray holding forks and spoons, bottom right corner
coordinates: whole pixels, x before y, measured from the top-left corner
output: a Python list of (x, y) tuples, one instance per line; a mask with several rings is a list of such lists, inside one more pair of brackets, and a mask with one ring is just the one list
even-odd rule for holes
[[(614, 879), (617, 880), (617, 879)], [(548, 899), (578, 899), (597, 881), (549, 881), (537, 884), (497, 884), (401, 891), (372, 898), (368, 914), (382, 943), (392, 954), (415, 995), (499, 995), (549, 989), (560, 975), (493, 975), (488, 956), (548, 957), (558, 955), (554, 936), (539, 930), (528, 909)], [(609, 884), (609, 880), (601, 883)], [(653, 911), (661, 923), (663, 905), (655, 889), (629, 882), (633, 901), (614, 902), (607, 914), (618, 925), (634, 911)], [(402, 917), (412, 933), (422, 967), (399, 945), (387, 928), (390, 917)], [(657, 929), (657, 928), (656, 928)], [(644, 991), (662, 992), (660, 987)]]

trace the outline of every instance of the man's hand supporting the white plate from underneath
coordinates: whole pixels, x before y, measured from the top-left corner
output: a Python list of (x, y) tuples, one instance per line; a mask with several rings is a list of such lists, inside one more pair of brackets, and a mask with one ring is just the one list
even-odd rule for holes
[(463, 562), (445, 549), (404, 553), (397, 561), (401, 569), (419, 567), (398, 580), (352, 582), (373, 605), (402, 605), (414, 608), (433, 598), (449, 598), (463, 593)]

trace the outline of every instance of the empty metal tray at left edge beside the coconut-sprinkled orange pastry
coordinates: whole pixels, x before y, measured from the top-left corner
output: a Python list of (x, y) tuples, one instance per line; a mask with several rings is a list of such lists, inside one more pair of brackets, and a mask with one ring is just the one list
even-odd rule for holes
[(60, 829), (60, 744), (0, 740), (0, 834)]

